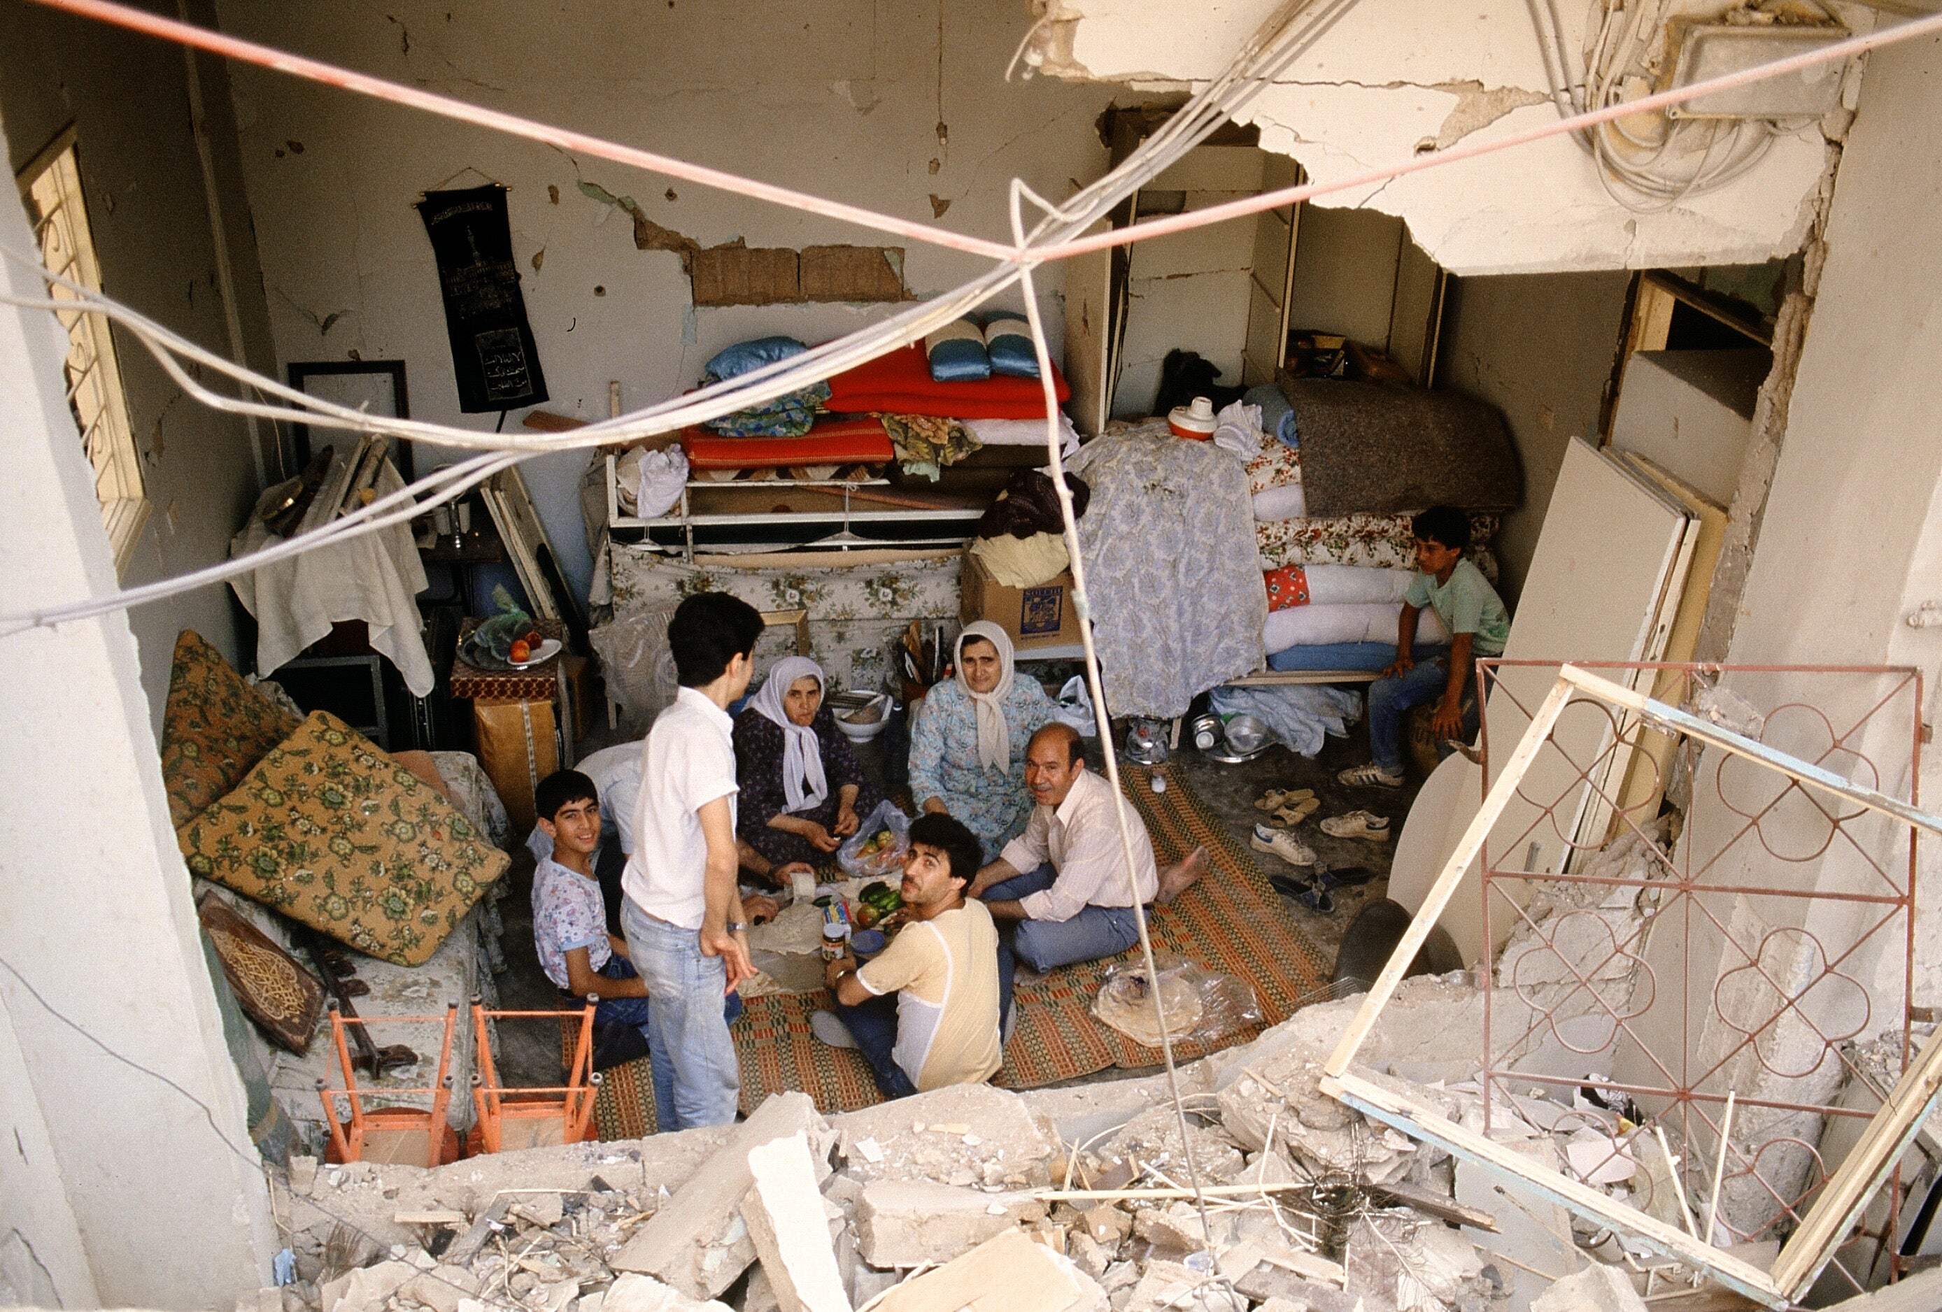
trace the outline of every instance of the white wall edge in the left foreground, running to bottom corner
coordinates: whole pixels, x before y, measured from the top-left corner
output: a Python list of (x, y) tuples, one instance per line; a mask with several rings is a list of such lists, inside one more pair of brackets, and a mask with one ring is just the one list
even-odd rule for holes
[[(0, 243), (29, 241), (17, 198), (0, 202)], [(0, 281), (14, 297), (41, 293), (16, 264)], [(115, 584), (64, 349), (52, 316), (0, 309), (6, 613)], [(12, 679), (0, 699), (0, 1145), (21, 1157), (8, 1192), (35, 1190), (0, 1215), (31, 1227), (35, 1250), (45, 1242), (47, 1283), (66, 1306), (231, 1306), (266, 1283), (278, 1244), (134, 635), (107, 615), (10, 635), (0, 654)], [(60, 1196), (47, 1196), (56, 1178)]]

